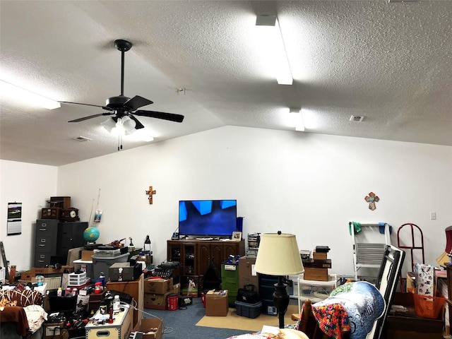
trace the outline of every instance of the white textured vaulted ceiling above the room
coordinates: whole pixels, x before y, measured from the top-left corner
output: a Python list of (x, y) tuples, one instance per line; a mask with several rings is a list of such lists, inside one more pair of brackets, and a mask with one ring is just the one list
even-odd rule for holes
[[(264, 67), (256, 14), (278, 15), (293, 85)], [(284, 108), (302, 107), (304, 133), (452, 145), (451, 1), (1, 1), (0, 15), (0, 78), (55, 100), (119, 95), (113, 41), (133, 42), (124, 94), (185, 116), (139, 117), (154, 143), (225, 125), (294, 131)], [(1, 94), (1, 159), (64, 165), (117, 152), (105, 117), (67, 122), (102, 109)]]

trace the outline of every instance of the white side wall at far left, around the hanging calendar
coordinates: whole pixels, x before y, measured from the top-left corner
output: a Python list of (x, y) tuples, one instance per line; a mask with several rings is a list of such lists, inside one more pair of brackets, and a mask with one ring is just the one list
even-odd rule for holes
[[(0, 160), (0, 239), (6, 259), (17, 270), (28, 270), (33, 265), (36, 219), (41, 208), (48, 206), (47, 200), (57, 193), (57, 172), (53, 166)], [(14, 201), (22, 203), (22, 234), (8, 236), (8, 203)]]

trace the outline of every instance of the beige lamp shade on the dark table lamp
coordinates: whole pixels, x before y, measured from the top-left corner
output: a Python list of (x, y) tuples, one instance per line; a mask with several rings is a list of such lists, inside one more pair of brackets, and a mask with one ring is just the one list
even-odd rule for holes
[(263, 233), (257, 252), (257, 273), (299, 275), (304, 272), (295, 234)]

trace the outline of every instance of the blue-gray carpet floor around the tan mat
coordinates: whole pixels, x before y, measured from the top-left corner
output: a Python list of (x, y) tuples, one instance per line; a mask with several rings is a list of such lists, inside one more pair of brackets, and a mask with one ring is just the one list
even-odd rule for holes
[(194, 298), (193, 304), (185, 309), (176, 311), (167, 311), (160, 309), (144, 309), (146, 314), (143, 318), (156, 316), (163, 322), (162, 339), (225, 339), (232, 335), (250, 333), (251, 331), (231, 330), (228, 328), (213, 328), (196, 326), (196, 323), (206, 315), (206, 309), (203, 308), (201, 298)]

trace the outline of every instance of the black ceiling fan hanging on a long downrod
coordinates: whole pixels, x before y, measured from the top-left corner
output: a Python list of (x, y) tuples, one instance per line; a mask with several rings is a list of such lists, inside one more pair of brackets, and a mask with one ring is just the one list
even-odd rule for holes
[[(99, 114), (93, 114), (88, 117), (73, 119), (68, 122), (80, 122), (85, 121), (88, 119), (92, 119), (95, 117), (102, 117), (104, 115), (112, 116), (112, 119), (115, 123), (121, 121), (125, 117), (129, 117), (131, 120), (135, 122), (135, 129), (143, 129), (144, 126), (141, 124), (134, 115), (140, 116), (140, 117), (150, 117), (150, 118), (157, 118), (157, 119), (164, 119), (174, 122), (182, 122), (184, 120), (184, 116), (181, 114), (173, 114), (173, 113), (165, 113), (165, 112), (156, 112), (156, 111), (145, 111), (142, 109), (138, 109), (140, 107), (153, 104), (152, 101), (141, 97), (139, 95), (136, 95), (132, 98), (124, 96), (124, 54), (125, 52), (129, 51), (129, 49), (132, 48), (132, 43), (127, 40), (114, 40), (114, 45), (116, 48), (121, 51), (121, 94), (117, 97), (109, 97), (106, 102), (105, 106), (100, 105), (91, 105), (91, 104), (83, 104), (81, 102), (69, 102), (69, 101), (60, 101), (64, 104), (75, 104), (75, 105), (85, 105), (85, 106), (93, 106), (93, 107), (100, 107), (102, 109), (105, 109), (109, 112), (102, 112)], [(137, 110), (138, 109), (138, 110)], [(122, 145), (121, 145), (122, 146)], [(121, 147), (122, 148), (122, 147)]]

